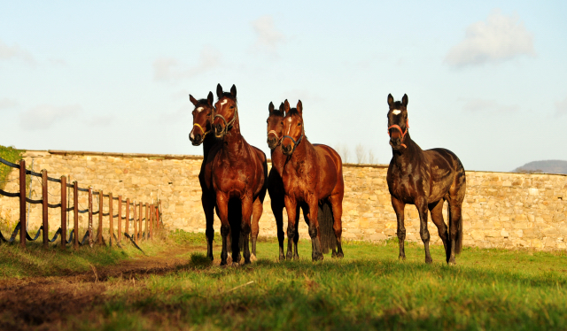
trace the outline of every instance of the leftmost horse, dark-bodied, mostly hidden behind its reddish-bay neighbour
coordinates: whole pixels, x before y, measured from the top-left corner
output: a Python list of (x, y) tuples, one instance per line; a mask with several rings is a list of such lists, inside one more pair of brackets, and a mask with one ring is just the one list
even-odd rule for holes
[(203, 144), (203, 163), (201, 171), (198, 173), (198, 181), (201, 184), (201, 204), (206, 219), (206, 257), (213, 260), (213, 240), (214, 240), (214, 206), (216, 197), (214, 195), (213, 182), (211, 181), (211, 162), (207, 159), (215, 155), (221, 149), (220, 138), (215, 137), (211, 132), (211, 119), (214, 112), (213, 92), (209, 92), (206, 99), (197, 100), (189, 95), (191, 104), (195, 106), (193, 110), (193, 128), (189, 134), (189, 140), (193, 146)]

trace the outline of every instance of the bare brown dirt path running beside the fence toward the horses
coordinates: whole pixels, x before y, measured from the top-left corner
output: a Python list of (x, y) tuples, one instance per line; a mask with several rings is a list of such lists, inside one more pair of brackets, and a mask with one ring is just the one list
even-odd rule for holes
[[(183, 249), (203, 251), (203, 247)], [(56, 330), (66, 318), (89, 312), (104, 302), (108, 280), (133, 281), (151, 274), (175, 271), (187, 263), (180, 250), (154, 257), (128, 260), (116, 266), (91, 267), (89, 272), (67, 276), (29, 277), (0, 281), (0, 330)]]

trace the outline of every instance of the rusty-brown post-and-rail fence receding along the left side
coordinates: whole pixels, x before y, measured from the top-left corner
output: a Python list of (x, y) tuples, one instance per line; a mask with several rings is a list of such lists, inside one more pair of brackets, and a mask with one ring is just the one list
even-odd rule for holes
[[(10, 197), (19, 197), (19, 222), (14, 228), (12, 235), (10, 238), (4, 237), (2, 232), (0, 231), (0, 242), (15, 242), (16, 236), (19, 234), (19, 245), (23, 248), (26, 247), (27, 241), (35, 241), (39, 237), (40, 233), (43, 234), (43, 246), (47, 247), (49, 242), (55, 242), (58, 237), (61, 237), (61, 248), (66, 248), (66, 245), (69, 243), (73, 243), (74, 248), (78, 248), (89, 243), (89, 246), (92, 246), (94, 243), (97, 244), (105, 244), (104, 237), (103, 237), (103, 218), (108, 217), (109, 221), (109, 244), (113, 245), (113, 238), (116, 236), (114, 235), (114, 219), (118, 219), (118, 238), (117, 241), (120, 242), (122, 240), (122, 234), (126, 236), (128, 239), (132, 240), (137, 244), (138, 240), (149, 240), (153, 239), (153, 227), (155, 226), (156, 229), (159, 229), (161, 223), (161, 212), (159, 210), (160, 202), (157, 203), (142, 203), (133, 201), (130, 203), (130, 198), (122, 199), (122, 196), (113, 197), (112, 193), (104, 194), (102, 190), (100, 191), (93, 191), (91, 187), (84, 189), (79, 187), (79, 183), (77, 181), (73, 181), (72, 184), (67, 183), (66, 176), (61, 176), (60, 179), (51, 178), (47, 174), (47, 170), (42, 170), (41, 173), (35, 173), (32, 170), (26, 169), (26, 160), (20, 160), (19, 165), (16, 165), (10, 161), (5, 160), (4, 158), (0, 158), (0, 163), (4, 165), (8, 165), (12, 168), (19, 169), (19, 192), (6, 192), (3, 189), (0, 189), (0, 195), (2, 196), (10, 196)], [(40, 177), (42, 180), (42, 198), (37, 200), (32, 200), (26, 196), (26, 175)], [(61, 196), (60, 202), (58, 204), (50, 204), (49, 203), (49, 194), (48, 194), (48, 182), (57, 182), (60, 183), (61, 186)], [(66, 207), (67, 205), (67, 188), (73, 189), (73, 206)], [(86, 192), (89, 201), (89, 207), (86, 209), (79, 210), (79, 192)], [(98, 199), (98, 210), (93, 210), (93, 198), (97, 196)], [(104, 212), (104, 199), (108, 199), (108, 212)], [(113, 210), (113, 202), (117, 200), (118, 209), (117, 211)], [(42, 226), (39, 227), (37, 233), (34, 237), (27, 233), (27, 214), (26, 214), (26, 204), (42, 204)], [(125, 215), (122, 216), (122, 204), (125, 204)], [(137, 207), (136, 207), (137, 206)], [(133, 218), (130, 218), (130, 207), (133, 209)], [(142, 218), (143, 211), (145, 207), (145, 217)], [(49, 208), (59, 208), (61, 210), (61, 226), (56, 231), (53, 238), (49, 238)], [(139, 212), (136, 216), (136, 208), (139, 208)], [(73, 212), (74, 214), (74, 225), (73, 229), (71, 230), (71, 234), (69, 235), (69, 239), (66, 239), (67, 236), (67, 213), (66, 212)], [(113, 212), (117, 212), (114, 214)], [(85, 234), (82, 237), (82, 240), (79, 241), (79, 214), (80, 213), (89, 213), (89, 226), (86, 230)], [(93, 238), (93, 216), (98, 215), (98, 224), (97, 224), (97, 235), (96, 238)], [(122, 219), (125, 219), (124, 229), (122, 233)], [(143, 223), (145, 220), (145, 231), (143, 232)], [(133, 234), (128, 234), (130, 221), (132, 221), (133, 227)]]

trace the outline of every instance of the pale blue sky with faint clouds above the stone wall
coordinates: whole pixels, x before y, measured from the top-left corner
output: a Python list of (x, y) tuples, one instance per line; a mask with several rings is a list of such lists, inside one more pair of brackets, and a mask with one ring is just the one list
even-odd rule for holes
[(467, 170), (567, 160), (564, 1), (0, 0), (0, 144), (202, 154), (189, 94), (237, 87), (264, 150), (268, 104), (310, 142), (387, 164), (389, 93), (409, 132)]

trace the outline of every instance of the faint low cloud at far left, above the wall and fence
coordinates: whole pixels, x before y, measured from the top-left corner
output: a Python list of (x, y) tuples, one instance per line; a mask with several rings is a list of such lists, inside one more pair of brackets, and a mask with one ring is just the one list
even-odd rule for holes
[(27, 130), (50, 128), (55, 122), (69, 119), (81, 112), (79, 104), (54, 106), (50, 104), (38, 105), (19, 115), (20, 126)]

